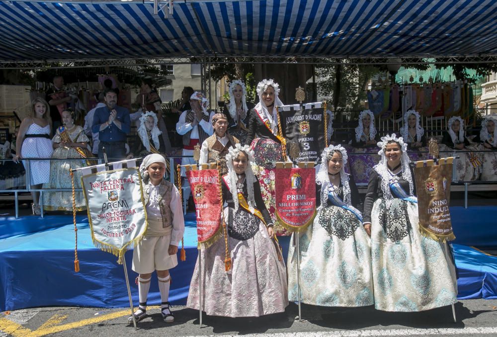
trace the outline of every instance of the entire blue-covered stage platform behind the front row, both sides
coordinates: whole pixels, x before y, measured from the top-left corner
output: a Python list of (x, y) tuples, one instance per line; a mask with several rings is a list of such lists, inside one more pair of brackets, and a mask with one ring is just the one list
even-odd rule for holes
[[(497, 257), (468, 246), (497, 247), (495, 206), (451, 207), (457, 240), (453, 249), (460, 299), (497, 299)], [(0, 311), (45, 306), (126, 307), (124, 271), (117, 258), (93, 247), (88, 219), (78, 216), (78, 255), (74, 272), (74, 226), (68, 215), (0, 217)], [(197, 258), (195, 217), (185, 217), (186, 261), (172, 269), (170, 301), (185, 304)], [(286, 260), (289, 237), (280, 238)], [(131, 270), (133, 301), (138, 303), (137, 274)], [(160, 303), (154, 274), (148, 303)]]

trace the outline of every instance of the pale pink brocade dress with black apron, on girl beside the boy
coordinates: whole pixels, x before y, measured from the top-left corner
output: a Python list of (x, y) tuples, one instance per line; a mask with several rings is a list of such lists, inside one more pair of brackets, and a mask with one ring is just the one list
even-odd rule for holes
[[(225, 242), (218, 239), (202, 250), (193, 276), (186, 306), (199, 309), (199, 263), (202, 264), (202, 309), (207, 315), (257, 317), (280, 313), (288, 305), (285, 264), (278, 245), (269, 239), (265, 223), (271, 219), (260, 196), (259, 183), (253, 184), (256, 211), (248, 210), (247, 182), (239, 191), (235, 211), (233, 194), (223, 177), (223, 200), (228, 207), (228, 249), (231, 270), (225, 271)], [(258, 211), (257, 211), (258, 210)]]

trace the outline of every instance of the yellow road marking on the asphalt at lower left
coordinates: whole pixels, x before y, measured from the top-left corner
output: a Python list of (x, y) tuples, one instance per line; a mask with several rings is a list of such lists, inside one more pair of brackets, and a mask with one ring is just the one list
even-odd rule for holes
[[(147, 309), (158, 309), (159, 306), (149, 306)], [(24, 328), (23, 326), (7, 320), (6, 318), (0, 318), (0, 331), (4, 332), (13, 337), (39, 337), (45, 336), (49, 334), (59, 333), (61, 331), (71, 330), (75, 328), (80, 328), (85, 325), (100, 323), (104, 321), (113, 320), (116, 318), (120, 318), (123, 316), (128, 316), (131, 314), (131, 311), (122, 310), (117, 311), (115, 313), (110, 313), (102, 316), (92, 317), (85, 320), (81, 320), (78, 322), (68, 323), (64, 325), (57, 325), (64, 321), (67, 318), (67, 315), (58, 315), (55, 314), (52, 316), (47, 322), (43, 323), (38, 329), (30, 330), (28, 328)]]

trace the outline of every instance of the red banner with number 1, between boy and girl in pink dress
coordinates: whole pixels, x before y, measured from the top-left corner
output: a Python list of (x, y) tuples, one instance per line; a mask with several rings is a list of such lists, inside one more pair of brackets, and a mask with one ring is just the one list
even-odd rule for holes
[(221, 192), (217, 169), (187, 170), (197, 215), (198, 248), (212, 245), (222, 234)]

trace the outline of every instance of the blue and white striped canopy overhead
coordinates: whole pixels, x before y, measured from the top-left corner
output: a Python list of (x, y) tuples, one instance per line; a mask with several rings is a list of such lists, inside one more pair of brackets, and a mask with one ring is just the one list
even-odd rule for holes
[(496, 0), (0, 1), (0, 61), (497, 55)]

